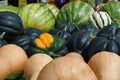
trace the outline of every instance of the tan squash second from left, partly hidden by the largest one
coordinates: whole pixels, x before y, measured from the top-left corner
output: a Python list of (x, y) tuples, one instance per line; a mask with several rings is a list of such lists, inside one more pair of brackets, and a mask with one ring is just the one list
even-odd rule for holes
[(43, 53), (36, 53), (32, 55), (24, 67), (24, 74), (27, 80), (37, 80), (37, 77), (43, 67), (53, 59)]

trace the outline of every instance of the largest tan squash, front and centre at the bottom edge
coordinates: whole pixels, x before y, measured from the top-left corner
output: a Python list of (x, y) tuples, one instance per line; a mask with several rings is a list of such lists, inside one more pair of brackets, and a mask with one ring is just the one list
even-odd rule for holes
[(49, 62), (37, 80), (97, 80), (94, 72), (83, 60), (74, 57), (58, 57)]

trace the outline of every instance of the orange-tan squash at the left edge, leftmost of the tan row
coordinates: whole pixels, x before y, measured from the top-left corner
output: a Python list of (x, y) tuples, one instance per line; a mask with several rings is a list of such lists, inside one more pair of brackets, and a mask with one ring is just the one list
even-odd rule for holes
[[(28, 60), (26, 52), (15, 44), (7, 44), (0, 48), (0, 57), (5, 58), (9, 63), (10, 72), (6, 79), (15, 79), (24, 69)], [(16, 61), (16, 62), (15, 62)]]

